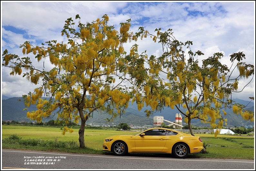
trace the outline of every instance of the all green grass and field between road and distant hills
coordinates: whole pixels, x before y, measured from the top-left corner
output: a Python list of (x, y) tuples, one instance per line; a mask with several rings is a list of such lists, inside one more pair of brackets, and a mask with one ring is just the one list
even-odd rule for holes
[[(134, 131), (95, 130), (85, 129), (84, 141), (86, 147), (79, 147), (79, 129), (73, 133), (62, 135), (60, 128), (55, 127), (26, 127), (2, 126), (2, 149), (42, 150), (70, 152), (80, 154), (105, 154), (102, 150), (103, 140), (111, 135), (135, 135)], [(191, 154), (188, 158), (230, 158), (254, 159), (254, 137), (195, 134), (200, 136), (207, 145), (207, 153)], [(167, 155), (168, 156), (168, 155)]]

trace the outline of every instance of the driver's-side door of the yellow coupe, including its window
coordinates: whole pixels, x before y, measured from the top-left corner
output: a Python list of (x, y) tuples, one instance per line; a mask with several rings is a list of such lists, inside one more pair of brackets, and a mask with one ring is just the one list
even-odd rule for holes
[(166, 137), (166, 130), (163, 129), (151, 129), (144, 132), (143, 136), (135, 137), (135, 148), (136, 151), (141, 152), (160, 152), (163, 150)]

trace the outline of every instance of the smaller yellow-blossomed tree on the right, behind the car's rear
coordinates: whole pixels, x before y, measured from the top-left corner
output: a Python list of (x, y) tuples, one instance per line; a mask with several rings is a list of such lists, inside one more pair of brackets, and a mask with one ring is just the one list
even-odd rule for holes
[[(214, 53), (207, 59), (200, 60), (204, 55), (201, 51), (192, 52), (192, 41), (182, 43), (173, 36), (172, 29), (162, 32), (155, 30), (156, 35), (139, 28), (136, 37), (150, 36), (154, 42), (162, 44), (161, 56), (141, 55), (143, 63), (148, 67), (142, 73), (143, 78), (134, 86), (134, 98), (138, 109), (143, 105), (150, 106), (146, 115), (164, 107), (176, 107), (184, 115), (192, 135), (192, 119), (200, 119), (202, 123), (210, 123), (212, 128), (221, 129), (227, 123), (225, 118), (227, 108), (232, 108), (235, 114), (240, 114), (245, 120), (254, 120), (254, 113), (246, 110), (244, 105), (232, 100), (232, 93), (242, 93), (239, 80), (247, 79), (248, 85), (254, 76), (254, 65), (242, 62), (243, 52), (230, 55), (230, 66), (221, 63), (222, 53)], [(185, 51), (187, 49), (187, 55)], [(238, 74), (235, 74), (235, 70)], [(254, 100), (254, 97), (248, 97)], [(183, 112), (185, 109), (186, 112)], [(215, 132), (215, 137), (219, 131)]]

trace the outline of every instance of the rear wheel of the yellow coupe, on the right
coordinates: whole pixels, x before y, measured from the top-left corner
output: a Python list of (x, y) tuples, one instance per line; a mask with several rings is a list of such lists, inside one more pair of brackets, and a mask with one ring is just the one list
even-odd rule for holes
[(189, 154), (188, 145), (182, 142), (175, 144), (172, 148), (172, 155), (175, 158), (186, 158)]

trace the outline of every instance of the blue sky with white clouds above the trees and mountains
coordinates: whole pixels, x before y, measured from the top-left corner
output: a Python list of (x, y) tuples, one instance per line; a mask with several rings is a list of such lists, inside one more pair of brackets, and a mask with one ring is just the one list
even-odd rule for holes
[[(61, 36), (64, 21), (79, 14), (81, 22), (92, 22), (104, 14), (109, 16), (109, 25), (118, 30), (119, 23), (131, 18), (131, 30), (140, 26), (153, 33), (156, 28), (173, 30), (179, 41), (193, 41), (192, 51), (201, 50), (203, 58), (222, 52), (223, 63), (229, 63), (229, 55), (243, 51), (244, 62), (255, 65), (255, 1), (226, 2), (125, 2), (125, 1), (1, 1), (1, 51), (22, 56), (20, 44), (30, 41), (40, 45), (45, 41), (66, 41)], [(134, 44), (134, 42), (132, 42)], [(159, 56), (162, 46), (152, 39), (136, 42), (139, 53)], [(125, 45), (129, 51), (131, 44)], [(37, 67), (43, 65), (35, 63)], [(50, 66), (49, 66), (50, 67)], [(47, 69), (47, 67), (45, 68)], [(10, 76), (10, 70), (2, 68), (1, 95), (22, 97), (36, 86), (22, 76)], [(240, 86), (247, 83), (240, 80)], [(243, 93), (232, 98), (249, 100), (254, 96), (254, 78)]]

